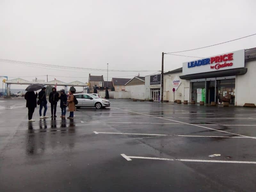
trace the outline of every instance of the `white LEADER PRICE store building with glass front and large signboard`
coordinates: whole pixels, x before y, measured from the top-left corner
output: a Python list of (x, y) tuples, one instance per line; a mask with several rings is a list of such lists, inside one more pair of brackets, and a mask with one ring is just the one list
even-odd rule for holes
[[(147, 87), (148, 76), (145, 80)], [(256, 48), (223, 53), (185, 62), (182, 68), (164, 73), (164, 100), (215, 101), (243, 106), (256, 103), (255, 80)], [(160, 84), (157, 89), (159, 94)], [(151, 87), (147, 90), (150, 98), (152, 91)]]

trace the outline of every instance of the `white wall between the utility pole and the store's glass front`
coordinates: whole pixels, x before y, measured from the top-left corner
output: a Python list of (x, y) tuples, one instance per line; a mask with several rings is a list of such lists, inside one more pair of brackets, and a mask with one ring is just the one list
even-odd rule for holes
[[(189, 88), (190, 89), (190, 81), (189, 80), (183, 80), (180, 79), (179, 76), (182, 75), (182, 72), (179, 73), (171, 73), (171, 74), (165, 74), (164, 75), (164, 100), (169, 100), (171, 102), (175, 100), (181, 100), (181, 102), (184, 101), (184, 89), (185, 88)], [(173, 92), (172, 92), (172, 81), (173, 80), (180, 80), (181, 84), (179, 86), (179, 88), (177, 89), (177, 91), (174, 94), (174, 98), (173, 98)], [(187, 98), (189, 98), (189, 93), (186, 96)], [(188, 101), (189, 102), (189, 101)]]

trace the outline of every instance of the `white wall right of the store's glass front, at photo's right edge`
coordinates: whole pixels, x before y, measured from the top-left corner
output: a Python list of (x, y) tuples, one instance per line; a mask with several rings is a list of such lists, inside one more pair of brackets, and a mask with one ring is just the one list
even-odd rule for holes
[(243, 106), (244, 103), (255, 103), (256, 90), (256, 60), (246, 61), (247, 73), (236, 76), (236, 105)]

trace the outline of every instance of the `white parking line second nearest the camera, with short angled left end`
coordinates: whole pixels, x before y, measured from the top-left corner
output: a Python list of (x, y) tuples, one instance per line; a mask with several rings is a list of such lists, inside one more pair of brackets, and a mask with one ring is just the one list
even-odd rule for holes
[[(240, 136), (204, 136), (204, 135), (171, 135), (171, 134), (148, 134), (148, 133), (118, 133), (118, 132), (97, 132), (94, 131), (95, 134), (123, 134), (123, 135), (154, 135), (154, 136), (177, 136), (177, 137), (220, 137), (220, 138), (244, 138), (248, 139), (249, 137), (240, 137)], [(256, 137), (253, 137), (256, 138)]]

